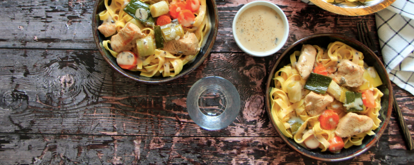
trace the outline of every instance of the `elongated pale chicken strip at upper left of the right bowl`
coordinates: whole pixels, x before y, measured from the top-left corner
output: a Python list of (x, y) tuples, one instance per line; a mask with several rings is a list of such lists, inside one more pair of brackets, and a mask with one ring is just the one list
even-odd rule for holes
[(315, 63), (316, 49), (312, 45), (303, 45), (296, 68), (303, 79), (308, 79)]

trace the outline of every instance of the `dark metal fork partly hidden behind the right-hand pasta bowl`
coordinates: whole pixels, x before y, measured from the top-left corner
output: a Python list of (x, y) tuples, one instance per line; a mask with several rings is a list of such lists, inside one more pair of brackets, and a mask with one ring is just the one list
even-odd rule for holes
[[(356, 23), (356, 26), (358, 30), (358, 40), (361, 41), (364, 45), (367, 45), (369, 49), (371, 49), (378, 56), (378, 50), (375, 47), (371, 34), (368, 31), (366, 21), (359, 21)], [(405, 123), (404, 117), (402, 116), (400, 106), (398, 106), (397, 100), (394, 97), (394, 93), (392, 93), (392, 97), (394, 98), (394, 111), (395, 113), (397, 113), (397, 120), (399, 121), (400, 126), (402, 128), (402, 132), (405, 137), (405, 142), (408, 146), (407, 149), (412, 150), (414, 149), (414, 141), (411, 137), (410, 131), (408, 130), (407, 124)]]

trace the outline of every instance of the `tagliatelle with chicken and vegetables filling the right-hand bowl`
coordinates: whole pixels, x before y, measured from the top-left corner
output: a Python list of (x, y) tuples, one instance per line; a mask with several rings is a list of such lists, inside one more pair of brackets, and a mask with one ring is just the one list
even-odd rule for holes
[(381, 123), (378, 73), (342, 43), (303, 45), (274, 74), (271, 115), (280, 132), (309, 149), (338, 153), (361, 145)]

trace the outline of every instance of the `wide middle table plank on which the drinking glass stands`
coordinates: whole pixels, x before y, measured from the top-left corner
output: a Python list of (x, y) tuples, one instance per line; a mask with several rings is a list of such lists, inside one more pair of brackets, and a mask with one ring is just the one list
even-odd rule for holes
[[(97, 51), (3, 49), (0, 58), (5, 59), (0, 64), (0, 132), (277, 136), (263, 92), (267, 68), (276, 60), (272, 56), (213, 53), (193, 73), (161, 85), (124, 78)], [(211, 75), (232, 82), (242, 100), (236, 120), (213, 132), (190, 119), (185, 102), (191, 85)], [(398, 100), (405, 105), (407, 124), (413, 125), (412, 96), (397, 88), (395, 92), (407, 98)], [(400, 134), (394, 116), (390, 126), (385, 134)]]

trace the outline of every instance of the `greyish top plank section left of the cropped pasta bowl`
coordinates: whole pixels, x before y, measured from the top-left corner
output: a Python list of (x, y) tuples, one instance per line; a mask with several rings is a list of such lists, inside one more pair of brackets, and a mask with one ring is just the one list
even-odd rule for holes
[(0, 2), (0, 47), (96, 49), (91, 31), (94, 0)]

